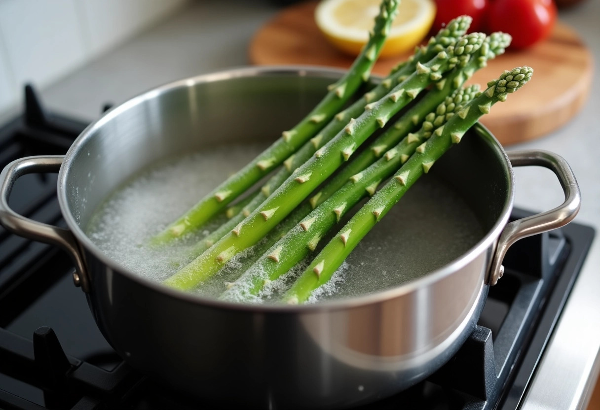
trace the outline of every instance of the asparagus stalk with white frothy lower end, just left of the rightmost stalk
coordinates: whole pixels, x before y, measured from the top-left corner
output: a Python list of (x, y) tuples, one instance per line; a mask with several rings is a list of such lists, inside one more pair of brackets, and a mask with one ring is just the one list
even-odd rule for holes
[[(223, 299), (250, 299), (265, 281), (274, 281), (314, 251), (319, 240), (365, 195), (373, 194), (382, 180), (391, 176), (421, 144), (431, 137), (434, 126), (442, 126), (479, 92), (479, 86), (457, 89), (425, 117), (424, 125), (391, 147), (370, 167), (351, 177), (327, 201), (271, 247), (223, 295)], [(286, 218), (286, 220), (289, 218)], [(286, 221), (284, 220), (284, 221)]]

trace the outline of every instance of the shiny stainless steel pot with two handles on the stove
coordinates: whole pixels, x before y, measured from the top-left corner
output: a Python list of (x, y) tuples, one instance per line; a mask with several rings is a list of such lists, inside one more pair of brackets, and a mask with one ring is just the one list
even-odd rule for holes
[[(467, 201), (487, 234), (469, 252), (409, 284), (312, 306), (245, 306), (179, 293), (127, 272), (86, 237), (92, 212), (152, 161), (206, 144), (277, 135), (340, 76), (308, 67), (243, 68), (159, 87), (113, 108), (65, 156), (14, 161), (0, 176), (0, 222), (65, 249), (106, 339), (124, 359), (178, 390), (251, 408), (343, 408), (396, 393), (440, 367), (479, 317), (516, 240), (577, 214), (569, 165), (541, 151), (508, 155), (483, 126), (432, 170)], [(566, 200), (507, 224), (512, 166), (554, 171)], [(8, 207), (23, 174), (58, 171), (67, 229)], [(393, 269), (393, 267), (391, 267)]]

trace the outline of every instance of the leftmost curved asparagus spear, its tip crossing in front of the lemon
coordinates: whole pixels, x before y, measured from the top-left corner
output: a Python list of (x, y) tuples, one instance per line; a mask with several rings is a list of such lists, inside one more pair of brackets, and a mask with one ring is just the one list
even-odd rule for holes
[(382, 1), (379, 15), (375, 18), (374, 29), (361, 54), (346, 75), (331, 86), (325, 98), (298, 125), (289, 131), (284, 131), (268, 149), (217, 186), (188, 212), (155, 236), (151, 242), (154, 244), (169, 242), (197, 229), (319, 132), (340, 111), (359, 86), (368, 80), (371, 68), (379, 56), (397, 14), (397, 8), (398, 0)]

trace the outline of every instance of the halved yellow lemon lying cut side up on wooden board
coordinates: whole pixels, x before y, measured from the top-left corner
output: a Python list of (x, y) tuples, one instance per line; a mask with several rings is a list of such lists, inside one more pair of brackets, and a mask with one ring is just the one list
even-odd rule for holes
[[(380, 0), (323, 0), (317, 6), (315, 20), (331, 44), (356, 56), (368, 41), (379, 3)], [(433, 0), (401, 0), (381, 56), (412, 50), (425, 38), (435, 17)]]

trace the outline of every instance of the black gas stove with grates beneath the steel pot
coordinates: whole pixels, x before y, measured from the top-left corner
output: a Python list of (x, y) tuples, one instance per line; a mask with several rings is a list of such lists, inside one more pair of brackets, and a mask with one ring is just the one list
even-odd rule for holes
[[(26, 87), (22, 116), (0, 128), (0, 166), (26, 155), (66, 152), (86, 123), (44, 110)], [(17, 212), (61, 225), (56, 175), (14, 186)], [(528, 212), (515, 209), (512, 218)], [(425, 381), (369, 409), (515, 409), (577, 281), (594, 230), (572, 223), (521, 240), (490, 288), (478, 326), (460, 351)], [(131, 369), (106, 342), (73, 286), (64, 252), (0, 228), (0, 408), (213, 408)], [(218, 408), (218, 405), (217, 407)]]

